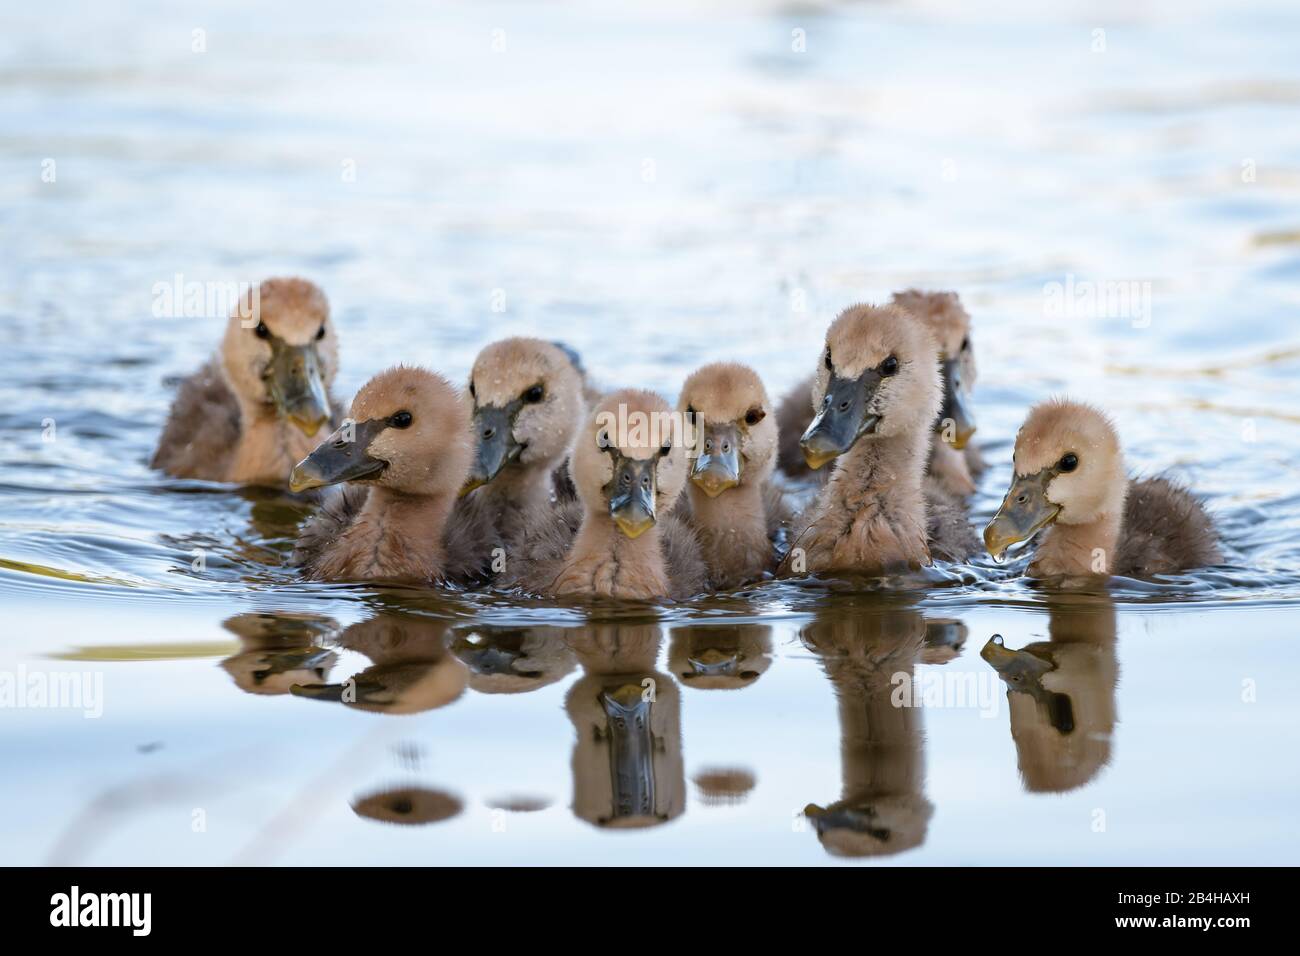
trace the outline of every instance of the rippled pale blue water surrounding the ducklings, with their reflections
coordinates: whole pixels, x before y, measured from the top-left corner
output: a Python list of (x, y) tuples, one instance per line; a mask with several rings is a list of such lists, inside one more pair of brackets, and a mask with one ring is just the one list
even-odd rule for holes
[[(94, 719), (0, 713), (5, 862), (841, 860), (815, 817), (879, 861), (1295, 861), (1294, 4), (56, 1), (0, 26), (0, 674), (101, 688)], [(1206, 496), (1226, 563), (649, 607), (300, 584), (299, 506), (147, 468), (222, 321), (155, 317), (155, 284), (281, 273), (330, 297), (341, 394), (538, 330), (611, 385), (736, 358), (780, 394), (842, 306), (954, 287), (974, 520), (1028, 405), (1069, 393), (1134, 471)], [(1046, 313), (1050, 284), (1105, 281), (1149, 310)], [(994, 633), (1040, 652), (1011, 658), (1032, 693), (982, 658)], [(681, 679), (692, 656), (742, 687)], [(413, 713), (283, 692), (356, 674)], [(888, 705), (894, 674), (924, 706)], [(647, 730), (611, 737), (618, 706)]]

